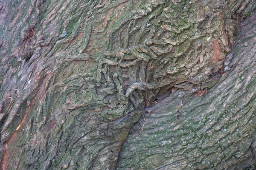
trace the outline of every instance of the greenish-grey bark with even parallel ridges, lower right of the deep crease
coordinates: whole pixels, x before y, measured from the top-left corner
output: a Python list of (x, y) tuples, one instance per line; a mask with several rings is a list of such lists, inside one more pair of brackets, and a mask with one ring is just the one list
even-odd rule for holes
[(145, 109), (119, 169), (244, 170), (256, 162), (256, 15), (241, 23), (237, 42), (226, 58), (230, 71), (212, 88), (177, 90)]

